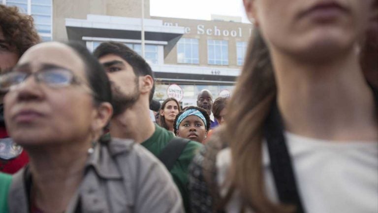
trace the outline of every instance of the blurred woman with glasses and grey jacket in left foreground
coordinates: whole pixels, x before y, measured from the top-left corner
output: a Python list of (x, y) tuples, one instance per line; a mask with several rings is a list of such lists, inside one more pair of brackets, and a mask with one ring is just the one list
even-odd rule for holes
[(110, 82), (88, 50), (47, 42), (0, 75), (5, 121), (30, 164), (13, 177), (9, 211), (182, 212), (168, 172), (132, 141), (99, 141)]

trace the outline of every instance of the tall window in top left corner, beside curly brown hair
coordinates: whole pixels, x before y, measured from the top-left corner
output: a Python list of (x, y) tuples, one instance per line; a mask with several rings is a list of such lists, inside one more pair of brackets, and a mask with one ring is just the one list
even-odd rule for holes
[(43, 41), (52, 40), (52, 0), (3, 0), (8, 6), (17, 6), (21, 12), (32, 15), (35, 28)]

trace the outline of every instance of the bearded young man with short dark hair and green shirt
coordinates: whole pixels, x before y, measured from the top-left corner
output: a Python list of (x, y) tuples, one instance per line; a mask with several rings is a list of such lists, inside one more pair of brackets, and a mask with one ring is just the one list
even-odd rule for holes
[[(151, 67), (136, 52), (119, 42), (101, 43), (94, 55), (112, 83), (114, 114), (110, 121), (110, 135), (133, 139), (160, 158), (160, 153), (174, 135), (150, 119), (149, 106), (155, 91)], [(187, 213), (190, 212), (188, 167), (200, 147), (198, 142), (187, 142), (171, 169), (167, 167), (180, 190)]]

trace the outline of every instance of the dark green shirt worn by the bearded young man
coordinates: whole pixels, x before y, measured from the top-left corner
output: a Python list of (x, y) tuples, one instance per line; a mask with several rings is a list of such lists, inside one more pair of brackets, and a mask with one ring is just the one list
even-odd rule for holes
[[(160, 152), (164, 147), (170, 142), (174, 135), (172, 132), (155, 125), (156, 130), (154, 134), (147, 139), (145, 142), (142, 142), (145, 148), (151, 151), (155, 156), (159, 156)], [(175, 165), (169, 171), (175, 181), (177, 187), (180, 190), (181, 196), (183, 197), (183, 203), (185, 211), (190, 212), (190, 202), (189, 202), (189, 165), (193, 160), (194, 155), (197, 153), (197, 150), (202, 147), (202, 144), (199, 142), (190, 141), (185, 147), (183, 153), (180, 155), (179, 159), (176, 161)]]

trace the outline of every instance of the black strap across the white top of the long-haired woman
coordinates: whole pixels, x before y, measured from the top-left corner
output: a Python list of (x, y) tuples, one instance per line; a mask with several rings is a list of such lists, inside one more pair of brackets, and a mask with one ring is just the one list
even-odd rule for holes
[(304, 213), (283, 131), (281, 115), (274, 103), (265, 123), (264, 137), (277, 193), (282, 203), (294, 205), (296, 213)]

